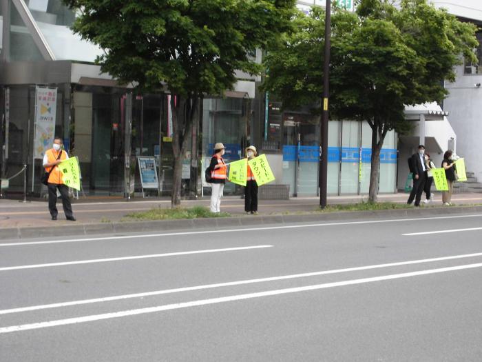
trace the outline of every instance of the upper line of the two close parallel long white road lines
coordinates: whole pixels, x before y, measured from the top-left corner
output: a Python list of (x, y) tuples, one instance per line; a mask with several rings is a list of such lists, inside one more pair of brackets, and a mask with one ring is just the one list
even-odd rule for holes
[(244, 285), (244, 284), (253, 284), (253, 283), (263, 283), (263, 282), (266, 282), (266, 281), (280, 281), (280, 280), (286, 280), (286, 279), (306, 278), (306, 277), (309, 277), (309, 276), (338, 274), (338, 273), (344, 273), (344, 272), (357, 272), (357, 271), (360, 271), (360, 270), (390, 268), (390, 267), (401, 266), (401, 265), (433, 263), (433, 262), (436, 262), (436, 261), (447, 261), (447, 260), (464, 259), (464, 258), (472, 258), (472, 257), (482, 257), (482, 252), (478, 252), (478, 253), (474, 253), (474, 254), (452, 255), (450, 257), (439, 257), (439, 258), (432, 258), (432, 259), (398, 261), (398, 262), (395, 262), (395, 263), (366, 265), (366, 266), (359, 266), (359, 267), (353, 267), (353, 268), (323, 270), (321, 272), (307, 272), (307, 273), (290, 274), (290, 275), (282, 275), (282, 276), (270, 276), (270, 277), (267, 277), (267, 278), (245, 279), (245, 280), (242, 280), (242, 281), (229, 281), (229, 282), (226, 282), (226, 283), (196, 285), (196, 286), (193, 286), (193, 287), (185, 287), (185, 288), (155, 290), (153, 292), (123, 294), (123, 295), (116, 295), (116, 296), (105, 296), (103, 298), (81, 299), (81, 300), (78, 300), (78, 301), (68, 301), (68, 302), (62, 302), (62, 303), (32, 305), (30, 307), (21, 307), (21, 308), (11, 308), (11, 309), (0, 310), (0, 315), (1, 314), (19, 313), (19, 312), (30, 312), (32, 310), (43, 310), (43, 309), (49, 309), (49, 308), (69, 307), (71, 305), (102, 303), (102, 302), (107, 302), (107, 301), (119, 301), (119, 300), (123, 300), (123, 299), (141, 298), (141, 297), (145, 297), (145, 296), (155, 296), (155, 295), (161, 295), (161, 294), (191, 292), (193, 290), (222, 288), (222, 287), (229, 287), (229, 286), (233, 286), (233, 285)]

